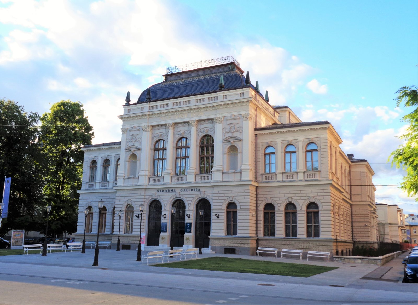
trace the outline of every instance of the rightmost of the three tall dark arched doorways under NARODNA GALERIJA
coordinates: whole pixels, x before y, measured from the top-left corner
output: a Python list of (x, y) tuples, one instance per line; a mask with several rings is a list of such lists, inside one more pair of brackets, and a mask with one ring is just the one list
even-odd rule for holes
[[(201, 215), (203, 212), (203, 215)], [(196, 205), (196, 236), (194, 246), (198, 248), (209, 247), (211, 206), (207, 199), (201, 199)]]

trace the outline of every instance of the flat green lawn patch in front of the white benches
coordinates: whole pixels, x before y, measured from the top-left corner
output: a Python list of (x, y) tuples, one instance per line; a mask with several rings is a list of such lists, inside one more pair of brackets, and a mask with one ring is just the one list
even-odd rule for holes
[(289, 277), (310, 277), (315, 274), (337, 269), (337, 267), (291, 264), (281, 263), (277, 261), (257, 261), (253, 259), (234, 259), (229, 257), (209, 257), (206, 259), (191, 259), (188, 261), (177, 261), (173, 263), (157, 264), (153, 266), (285, 275)]

